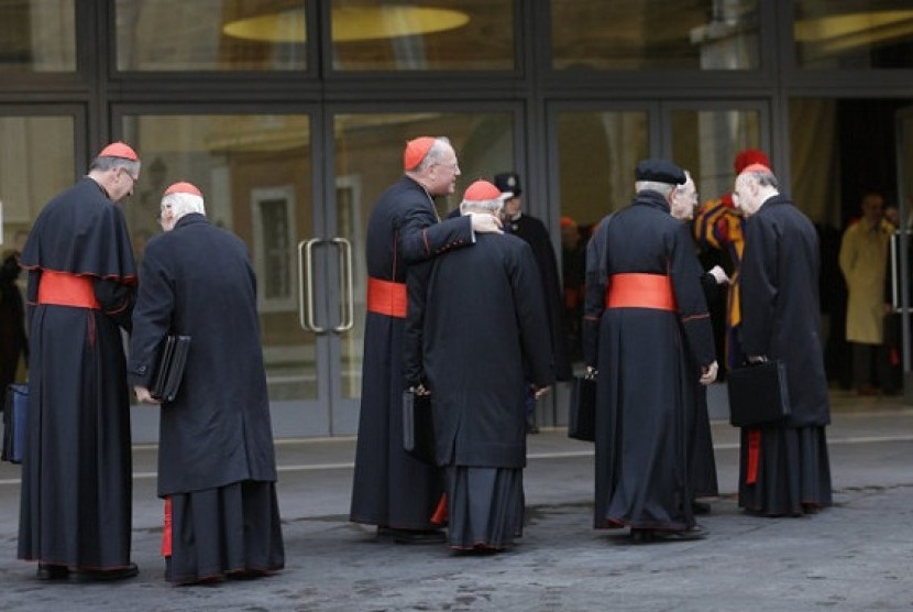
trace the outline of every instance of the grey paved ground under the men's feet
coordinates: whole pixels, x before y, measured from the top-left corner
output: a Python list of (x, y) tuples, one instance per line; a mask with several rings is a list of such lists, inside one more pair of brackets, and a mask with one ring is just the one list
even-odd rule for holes
[(834, 395), (835, 506), (811, 517), (738, 511), (736, 430), (714, 423), (721, 488), (700, 542), (630, 544), (590, 528), (592, 446), (563, 429), (529, 438), (529, 521), (493, 557), (378, 542), (346, 521), (354, 441), (278, 446), (287, 568), (275, 577), (174, 588), (157, 555), (155, 448), (138, 447), (136, 579), (48, 584), (15, 560), (18, 468), (0, 466), (2, 610), (803, 611), (913, 610), (913, 409)]

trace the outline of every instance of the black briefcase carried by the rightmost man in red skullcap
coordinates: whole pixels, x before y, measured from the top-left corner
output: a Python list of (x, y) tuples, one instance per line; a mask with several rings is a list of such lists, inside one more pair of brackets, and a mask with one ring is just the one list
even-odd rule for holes
[(771, 425), (790, 415), (787, 364), (765, 361), (730, 370), (729, 423), (736, 427)]

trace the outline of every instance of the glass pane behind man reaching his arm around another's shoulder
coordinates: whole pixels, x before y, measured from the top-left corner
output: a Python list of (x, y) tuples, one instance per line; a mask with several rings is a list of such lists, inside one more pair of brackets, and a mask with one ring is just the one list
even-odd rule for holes
[(366, 273), (364, 241), (374, 201), (403, 175), (403, 144), (424, 134), (446, 135), (457, 150), (462, 175), (452, 196), (437, 198), (441, 217), (455, 209), (463, 190), (514, 167), (509, 113), (339, 114), (336, 117), (338, 233), (352, 242), (355, 328), (341, 340), (343, 397), (361, 393)]

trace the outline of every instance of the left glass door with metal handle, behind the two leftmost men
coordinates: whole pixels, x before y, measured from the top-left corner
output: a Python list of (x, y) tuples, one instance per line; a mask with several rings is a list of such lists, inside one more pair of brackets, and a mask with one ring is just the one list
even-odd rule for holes
[(311, 116), (131, 110), (120, 120), (123, 140), (143, 160), (136, 193), (124, 207), (136, 258), (161, 231), (163, 190), (176, 181), (197, 185), (209, 220), (248, 244), (256, 272), (274, 435), (337, 433), (330, 390), (339, 374), (329, 359), (329, 340), (315, 329), (330, 318), (322, 295), (338, 286), (328, 278), (338, 272), (324, 264), (326, 253), (315, 252), (321, 249), (311, 249), (316, 260), (302, 269), (298, 249), (326, 234), (319, 226), (323, 211), (315, 205), (320, 199)]

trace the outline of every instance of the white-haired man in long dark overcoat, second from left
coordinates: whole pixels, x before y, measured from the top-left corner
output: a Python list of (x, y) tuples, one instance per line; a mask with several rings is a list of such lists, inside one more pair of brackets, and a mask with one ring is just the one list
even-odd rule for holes
[(141, 403), (160, 404), (148, 390), (160, 347), (190, 336), (177, 395), (160, 413), (165, 578), (265, 576), (285, 553), (254, 271), (244, 242), (206, 218), (196, 186), (165, 190), (161, 222), (140, 269), (129, 381)]

